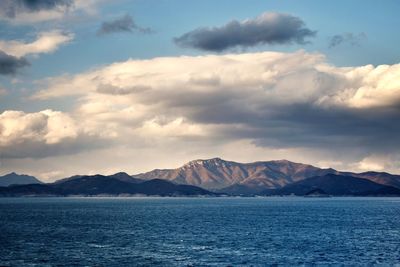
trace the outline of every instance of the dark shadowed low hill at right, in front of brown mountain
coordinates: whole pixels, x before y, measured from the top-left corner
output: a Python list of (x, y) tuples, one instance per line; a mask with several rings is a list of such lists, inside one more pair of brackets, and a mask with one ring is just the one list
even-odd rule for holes
[(266, 195), (306, 195), (318, 189), (328, 195), (400, 195), (400, 189), (378, 184), (368, 179), (337, 174), (327, 174), (307, 178), (302, 181), (289, 184), (283, 188), (266, 190)]

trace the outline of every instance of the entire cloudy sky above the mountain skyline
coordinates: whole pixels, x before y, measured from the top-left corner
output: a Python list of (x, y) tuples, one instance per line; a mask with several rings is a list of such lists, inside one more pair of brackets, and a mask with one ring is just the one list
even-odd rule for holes
[(400, 173), (397, 0), (3, 0), (0, 174)]

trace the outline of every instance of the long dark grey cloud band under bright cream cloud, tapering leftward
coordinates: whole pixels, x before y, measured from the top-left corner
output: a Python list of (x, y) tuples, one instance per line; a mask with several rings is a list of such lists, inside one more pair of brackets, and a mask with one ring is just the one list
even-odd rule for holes
[(248, 100), (225, 100), (184, 110), (189, 120), (218, 124), (225, 139), (252, 139), (260, 147), (311, 148), (342, 153), (397, 153), (400, 109), (348, 108), (291, 104), (249, 106)]

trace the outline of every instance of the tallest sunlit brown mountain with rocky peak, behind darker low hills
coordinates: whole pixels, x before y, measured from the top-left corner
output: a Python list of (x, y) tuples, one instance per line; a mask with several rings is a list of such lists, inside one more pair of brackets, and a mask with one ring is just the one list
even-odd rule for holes
[[(139, 179), (160, 178), (179, 184), (200, 186), (208, 190), (262, 191), (280, 188), (312, 176), (336, 173), (333, 169), (320, 169), (287, 160), (238, 163), (220, 158), (194, 160), (177, 169), (156, 169), (134, 175)], [(241, 185), (241, 187), (234, 185)]]

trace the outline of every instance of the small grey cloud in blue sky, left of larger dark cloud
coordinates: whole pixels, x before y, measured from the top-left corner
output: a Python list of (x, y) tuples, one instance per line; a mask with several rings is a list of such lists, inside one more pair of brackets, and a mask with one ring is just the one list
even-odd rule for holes
[(97, 31), (98, 35), (105, 35), (118, 32), (140, 32), (140, 33), (151, 33), (150, 28), (142, 28), (138, 26), (132, 16), (126, 14), (120, 18), (116, 18), (112, 21), (105, 21), (102, 23), (100, 29)]

